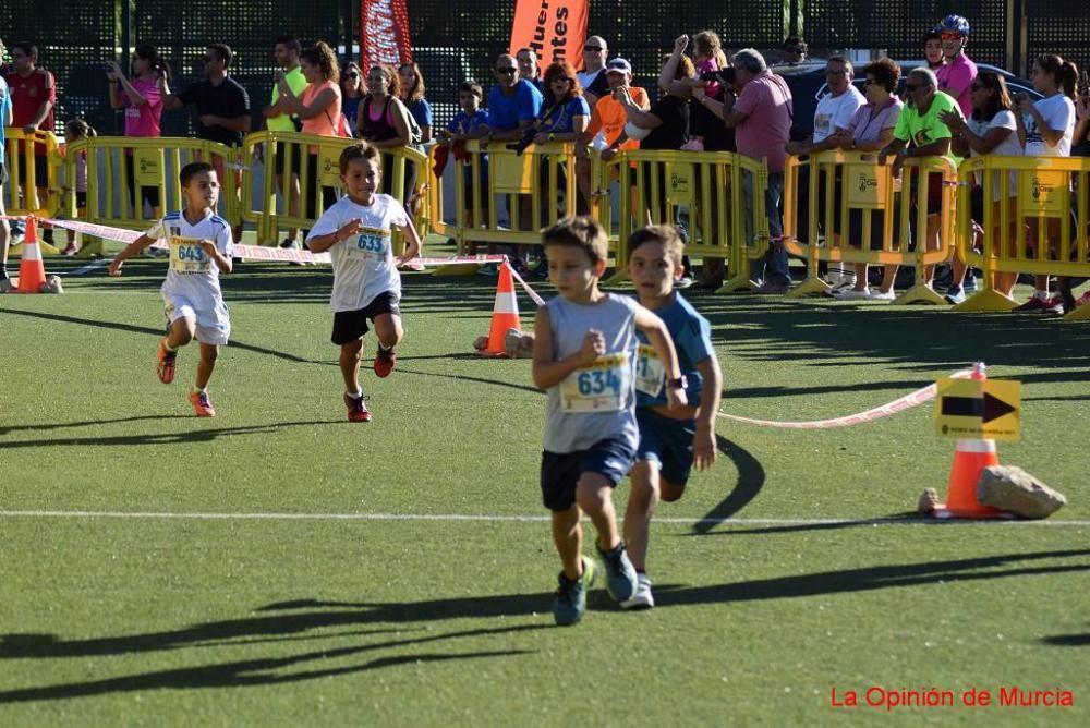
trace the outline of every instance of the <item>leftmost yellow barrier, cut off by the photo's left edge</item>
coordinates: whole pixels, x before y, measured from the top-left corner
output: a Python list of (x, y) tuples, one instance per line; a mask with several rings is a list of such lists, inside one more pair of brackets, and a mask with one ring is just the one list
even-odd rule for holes
[[(3, 135), (3, 166), (10, 178), (7, 189), (0, 192), (4, 211), (53, 217), (61, 204), (61, 155), (57, 137), (52, 132), (35, 130), (28, 134), (14, 126), (4, 128)], [(43, 253), (56, 255), (59, 252), (45, 241), (38, 244)], [(20, 255), (20, 246), (12, 253)]]

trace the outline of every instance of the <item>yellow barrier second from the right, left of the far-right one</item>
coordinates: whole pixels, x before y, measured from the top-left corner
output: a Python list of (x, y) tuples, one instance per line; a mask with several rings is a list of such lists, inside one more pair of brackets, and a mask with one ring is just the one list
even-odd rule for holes
[[(810, 174), (803, 190), (799, 172), (806, 167)], [(924, 283), (925, 268), (948, 260), (954, 251), (956, 185), (957, 170), (944, 157), (907, 159), (899, 179), (893, 177), (892, 166), (879, 165), (876, 155), (869, 153), (823, 151), (809, 161), (789, 158), (784, 233), (788, 253), (806, 258), (807, 279), (788, 295), (829, 290), (818, 276), (820, 262), (865, 263), (916, 268), (916, 286), (894, 303), (945, 303)], [(809, 202), (809, 240), (800, 241), (798, 202), (803, 194)], [(929, 197), (932, 205), (938, 205), (938, 243), (932, 250), (927, 234)], [(850, 240), (853, 227), (861, 231), (861, 240)], [(909, 250), (913, 228), (915, 251)], [(871, 250), (876, 235), (881, 236), (881, 250)]]

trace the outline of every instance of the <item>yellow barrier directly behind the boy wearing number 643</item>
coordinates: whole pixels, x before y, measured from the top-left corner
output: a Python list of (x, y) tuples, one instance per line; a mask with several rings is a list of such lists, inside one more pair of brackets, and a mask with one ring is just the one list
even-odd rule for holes
[[(240, 170), (233, 149), (215, 142), (178, 137), (96, 136), (68, 145), (63, 208), (75, 217), (75, 166), (87, 156), (87, 222), (128, 230), (145, 230), (169, 210), (184, 207), (178, 174), (182, 167), (206, 161), (221, 171), (220, 215), (232, 226), (239, 223), (238, 185)], [(145, 201), (152, 207), (145, 215)], [(154, 203), (158, 201), (158, 205)], [(81, 254), (101, 254), (101, 243), (86, 246)]]

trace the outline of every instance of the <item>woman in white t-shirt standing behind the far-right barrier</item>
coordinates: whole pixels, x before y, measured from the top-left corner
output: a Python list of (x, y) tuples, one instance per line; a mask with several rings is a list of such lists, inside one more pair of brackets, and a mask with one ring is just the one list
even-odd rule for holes
[[(1027, 157), (1068, 157), (1071, 154), (1071, 138), (1075, 136), (1075, 85), (1079, 72), (1075, 64), (1055, 53), (1038, 56), (1030, 74), (1033, 86), (1044, 95), (1039, 101), (1031, 101), (1020, 94), (1016, 99), (1015, 116), (1018, 124), (1018, 139)], [(1046, 225), (1047, 240), (1059, 238), (1059, 220), (1050, 218)], [(1029, 240), (1037, 243), (1039, 226), (1029, 220)], [(1064, 302), (1059, 296), (1049, 296), (1049, 277), (1037, 276), (1033, 298), (1015, 311), (1063, 314)]]

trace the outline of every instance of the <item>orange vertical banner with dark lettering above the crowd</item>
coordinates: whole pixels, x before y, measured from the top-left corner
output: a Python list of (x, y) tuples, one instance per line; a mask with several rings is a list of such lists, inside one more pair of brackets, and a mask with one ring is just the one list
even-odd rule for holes
[(583, 68), (586, 5), (588, 0), (517, 0), (508, 52), (533, 48), (543, 69), (557, 61)]

